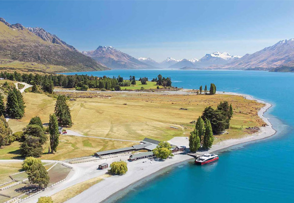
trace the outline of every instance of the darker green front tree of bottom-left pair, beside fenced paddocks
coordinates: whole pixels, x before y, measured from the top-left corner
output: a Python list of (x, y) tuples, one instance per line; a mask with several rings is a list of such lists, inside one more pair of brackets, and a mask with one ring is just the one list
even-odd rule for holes
[(50, 178), (42, 163), (35, 162), (32, 164), (30, 169), (26, 171), (26, 174), (31, 184), (38, 184), (39, 187), (47, 187)]

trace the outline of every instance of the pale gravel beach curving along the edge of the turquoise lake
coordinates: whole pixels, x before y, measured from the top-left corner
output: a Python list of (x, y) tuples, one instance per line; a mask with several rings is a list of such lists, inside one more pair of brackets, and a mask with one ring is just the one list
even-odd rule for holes
[[(189, 92), (186, 92), (189, 93)], [(265, 104), (263, 108), (261, 108), (258, 112), (258, 115), (263, 119), (263, 121), (267, 124), (265, 127), (261, 127), (259, 132), (254, 133), (252, 135), (245, 136), (243, 138), (238, 139), (228, 139), (221, 141), (220, 143), (213, 145), (208, 151), (198, 152), (197, 154), (201, 155), (204, 153), (212, 153), (220, 150), (224, 150), (228, 147), (232, 147), (234, 145), (247, 143), (259, 139), (264, 139), (275, 135), (276, 131), (272, 128), (272, 124), (269, 121), (269, 118), (264, 116), (272, 105), (270, 103), (264, 102), (262, 100), (258, 100), (253, 98), (250, 95), (234, 93), (234, 92), (217, 92), (218, 94), (229, 94), (229, 95), (240, 95), (244, 96), (246, 99), (255, 100), (259, 103)], [(153, 161), (152, 164), (148, 164), (145, 166), (142, 164), (141, 160), (137, 160), (134, 162), (128, 163), (128, 172), (123, 176), (113, 176), (106, 180), (99, 182), (96, 185), (93, 185), (88, 190), (83, 191), (79, 195), (73, 197), (72, 199), (66, 201), (66, 203), (79, 203), (79, 202), (95, 202), (95, 203), (104, 203), (108, 198), (114, 197), (118, 193), (127, 189), (129, 186), (138, 183), (139, 181), (147, 180), (148, 177), (160, 173), (162, 170), (167, 167), (173, 167), (173, 165), (180, 164), (181, 162), (187, 161), (189, 159), (193, 159), (188, 155), (175, 155), (172, 159), (167, 159), (165, 161)], [(148, 162), (148, 161), (147, 161)], [(155, 164), (156, 163), (156, 164)], [(140, 170), (141, 168), (141, 170)], [(142, 173), (142, 171), (147, 173)], [(99, 195), (96, 195), (96, 192), (99, 191)]]

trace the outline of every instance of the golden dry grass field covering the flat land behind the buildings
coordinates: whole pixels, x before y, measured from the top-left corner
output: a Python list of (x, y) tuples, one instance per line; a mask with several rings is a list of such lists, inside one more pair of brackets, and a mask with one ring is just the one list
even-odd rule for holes
[[(68, 93), (70, 94), (70, 93)], [(81, 92), (81, 94), (83, 94)], [(95, 93), (98, 94), (98, 93)], [(77, 98), (67, 101), (73, 126), (69, 129), (83, 135), (116, 139), (142, 140), (150, 137), (170, 140), (174, 136), (189, 136), (195, 121), (205, 107), (216, 108), (220, 101), (232, 103), (234, 116), (228, 134), (217, 135), (216, 142), (247, 135), (247, 127), (261, 126), (263, 121), (257, 112), (263, 104), (232, 95), (152, 94), (144, 92), (103, 92), (96, 98)], [(25, 93), (25, 117), (11, 119), (9, 126), (14, 132), (21, 131), (30, 118), (39, 115), (43, 123), (49, 122), (54, 111), (55, 99), (45, 94)], [(188, 110), (180, 110), (185, 108)], [(178, 127), (173, 129), (171, 126)], [(94, 152), (131, 146), (135, 143), (97, 138), (60, 135), (55, 154), (47, 154), (49, 143), (44, 147), (44, 159), (67, 159), (93, 155)], [(0, 158), (18, 158), (18, 143), (0, 149)]]

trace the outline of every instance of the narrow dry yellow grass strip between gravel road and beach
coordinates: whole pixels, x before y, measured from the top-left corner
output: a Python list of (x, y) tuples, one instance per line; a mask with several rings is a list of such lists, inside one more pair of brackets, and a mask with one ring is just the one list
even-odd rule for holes
[(91, 186), (97, 184), (98, 182), (102, 181), (103, 178), (108, 177), (109, 175), (99, 176), (90, 180), (86, 180), (80, 182), (78, 184), (73, 185), (67, 189), (61, 190), (60, 192), (51, 196), (54, 203), (64, 203), (67, 200), (75, 197), (76, 195), (82, 193), (83, 191), (89, 189)]

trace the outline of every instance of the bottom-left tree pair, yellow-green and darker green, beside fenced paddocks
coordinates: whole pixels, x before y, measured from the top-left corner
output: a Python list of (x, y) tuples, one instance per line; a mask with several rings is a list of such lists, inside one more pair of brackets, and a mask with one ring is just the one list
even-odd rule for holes
[(25, 158), (23, 169), (26, 170), (28, 181), (31, 184), (38, 184), (40, 188), (47, 187), (49, 184), (49, 175), (41, 160), (33, 157)]

